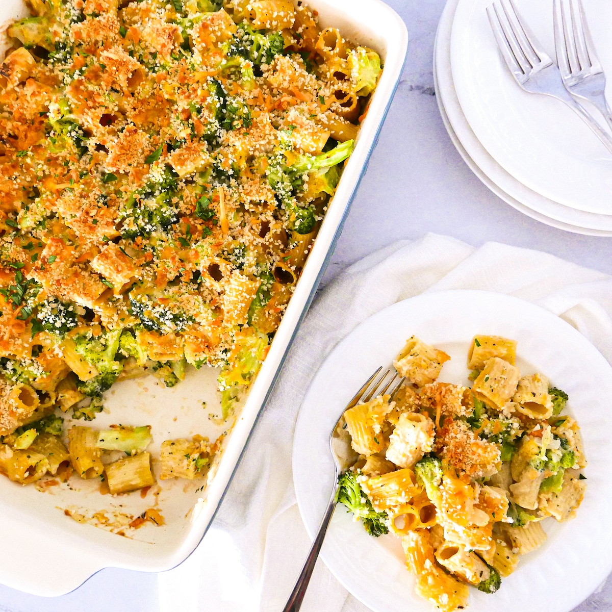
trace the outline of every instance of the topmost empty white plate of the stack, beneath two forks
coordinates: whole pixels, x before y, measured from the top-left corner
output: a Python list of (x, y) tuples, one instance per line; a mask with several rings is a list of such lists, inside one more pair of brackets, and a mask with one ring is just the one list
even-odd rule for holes
[[(499, 54), (485, 8), (460, 0), (452, 29), (452, 73), (469, 125), (489, 154), (537, 193), (581, 211), (612, 214), (612, 154), (563, 102), (529, 94)], [(517, 0), (554, 58), (552, 2)], [(612, 74), (609, 0), (584, 0), (600, 61)]]

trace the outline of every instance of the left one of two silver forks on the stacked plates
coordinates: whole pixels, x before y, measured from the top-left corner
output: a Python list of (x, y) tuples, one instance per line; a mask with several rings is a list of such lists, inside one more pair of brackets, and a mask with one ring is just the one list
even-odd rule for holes
[(494, 2), (487, 7), (487, 15), (499, 51), (517, 83), (530, 93), (550, 95), (565, 102), (612, 152), (612, 136), (565, 89), (557, 65), (535, 39), (512, 0)]

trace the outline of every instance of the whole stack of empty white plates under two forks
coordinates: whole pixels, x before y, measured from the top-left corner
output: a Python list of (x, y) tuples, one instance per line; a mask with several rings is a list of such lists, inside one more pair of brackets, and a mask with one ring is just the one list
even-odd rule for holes
[[(543, 223), (612, 236), (612, 154), (569, 107), (529, 94), (510, 75), (488, 23), (492, 0), (448, 0), (434, 78), (450, 138), (479, 179)], [(554, 58), (552, 2), (515, 0)], [(612, 81), (610, 0), (584, 0), (600, 62)]]

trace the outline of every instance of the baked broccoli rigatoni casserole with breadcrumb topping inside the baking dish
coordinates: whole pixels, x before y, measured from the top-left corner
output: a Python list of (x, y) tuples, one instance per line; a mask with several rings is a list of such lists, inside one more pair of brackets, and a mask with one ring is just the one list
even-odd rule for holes
[[(381, 60), (302, 2), (28, 7), (0, 67), (0, 472), (99, 477), (110, 493), (151, 487), (156, 463), (162, 480), (202, 477), (266, 357)], [(118, 381), (171, 387), (208, 366), (226, 424), (214, 441), (152, 453), (146, 424), (74, 423), (95, 419)]]

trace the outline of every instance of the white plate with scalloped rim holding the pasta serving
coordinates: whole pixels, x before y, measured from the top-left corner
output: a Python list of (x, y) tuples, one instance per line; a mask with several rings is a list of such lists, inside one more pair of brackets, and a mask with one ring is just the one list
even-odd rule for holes
[[(487, 291), (440, 291), (385, 308), (351, 332), (330, 353), (304, 398), (293, 444), (297, 503), (311, 537), (330, 492), (334, 468), (328, 437), (354, 392), (379, 365), (389, 365), (412, 334), (452, 359), (439, 380), (468, 384), (466, 356), (476, 334), (518, 341), (521, 373), (541, 372), (569, 394), (569, 414), (582, 428), (588, 488), (577, 517), (544, 521), (548, 541), (521, 557), (501, 589), (470, 589), (472, 612), (568, 612), (612, 570), (612, 455), (609, 397), (612, 368), (583, 335), (547, 310)], [(343, 506), (334, 513), (321, 556), (335, 577), (375, 612), (431, 612), (414, 593), (400, 539), (368, 535)]]

